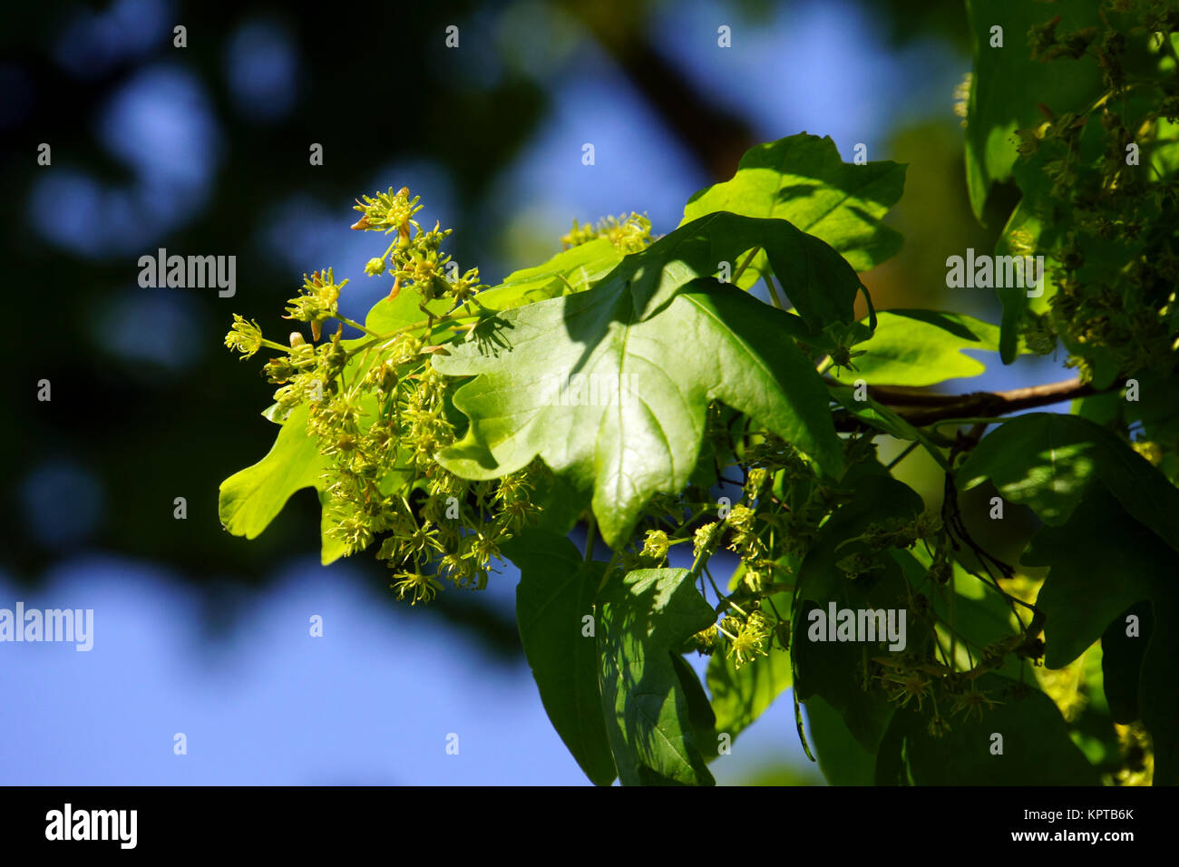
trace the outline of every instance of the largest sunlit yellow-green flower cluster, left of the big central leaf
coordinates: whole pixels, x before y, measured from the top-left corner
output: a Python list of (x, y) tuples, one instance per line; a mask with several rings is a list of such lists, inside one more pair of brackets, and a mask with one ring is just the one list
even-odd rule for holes
[[(423, 231), (409, 190), (365, 196), (355, 229), (396, 232), (383, 256), (365, 265), (377, 276), (391, 271), (395, 291), (410, 288), (423, 307), (449, 295), (461, 303), (482, 287), (479, 270), (447, 276), (441, 252), (449, 230)], [(416, 234), (414, 234), (416, 230)], [(453, 270), (453, 269), (450, 269)], [(393, 571), (390, 586), (410, 604), (429, 602), (440, 579), (483, 587), (500, 544), (536, 512), (534, 493), (546, 481), (540, 461), (495, 481), (472, 482), (447, 472), (437, 453), (454, 441), (447, 418), (447, 381), (434, 370), (432, 315), (416, 328), (344, 340), (340, 291), (330, 268), (304, 275), (286, 318), (307, 322), (311, 340), (295, 331), (289, 346), (268, 341), (257, 322), (235, 316), (225, 344), (249, 357), (266, 347), (279, 352), (263, 373), (278, 386), (268, 416), (277, 422), (305, 408), (307, 433), (324, 462), (322, 491), (327, 538), (345, 554), (380, 544), (377, 557)], [(330, 340), (322, 324), (340, 321)]]

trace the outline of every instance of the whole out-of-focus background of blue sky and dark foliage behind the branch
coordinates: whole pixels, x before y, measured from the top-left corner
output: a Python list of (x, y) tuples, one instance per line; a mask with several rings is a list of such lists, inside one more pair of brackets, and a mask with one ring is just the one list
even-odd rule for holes
[[(0, 783), (586, 782), (523, 661), (511, 569), (410, 609), (370, 557), (320, 566), (310, 491), (255, 541), (217, 520), (218, 484), (276, 431), (259, 364), (222, 346), (232, 313), (284, 334), (283, 301), (330, 264), (363, 318), (388, 285), (348, 228), (362, 193), (408, 185), (494, 283), (574, 218), (646, 211), (665, 232), (746, 147), (829, 134), (845, 159), (864, 143), (910, 164), (890, 217), (905, 248), (864, 276), (877, 308), (996, 318), (990, 293), (943, 297), (946, 256), (994, 238), (967, 203), (959, 2), (117, 0), (0, 20), (0, 607), (95, 617), (88, 653), (0, 644)], [(236, 296), (140, 288), (160, 247), (235, 255)], [(993, 361), (947, 388), (1043, 379)], [(918, 457), (904, 466), (936, 491)], [(786, 695), (713, 770), (822, 782)]]

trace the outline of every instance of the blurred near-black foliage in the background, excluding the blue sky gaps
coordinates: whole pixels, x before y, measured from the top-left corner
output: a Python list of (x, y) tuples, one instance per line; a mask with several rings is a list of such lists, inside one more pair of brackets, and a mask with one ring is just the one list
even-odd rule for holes
[[(711, 177), (731, 175), (752, 144), (750, 126), (694, 92), (648, 44), (650, 4), (558, 5), (614, 58)], [(740, 6), (756, 14), (770, 5), (746, 0)], [(897, 40), (930, 31), (962, 32), (959, 4), (880, 0), (877, 6)], [(456, 20), (494, 20), (501, 8), (496, 2), (174, 4), (174, 22), (187, 28), (183, 55), (172, 47), (169, 24), (158, 45), (133, 57), (107, 61), (100, 44), (79, 45), (74, 68), (62, 64), (61, 52), (74, 51), (62, 44), (70, 25), (108, 7), (31, 2), (7, 4), (0, 12), (4, 83), (11, 85), (0, 93), (6, 103), (0, 130), (6, 206), (0, 219), (9, 306), (0, 386), (7, 415), (0, 451), (0, 569), (18, 582), (37, 583), (73, 554), (110, 552), (163, 564), (216, 599), (226, 586), (259, 586), (274, 576), (276, 563), (318, 550), (318, 504), (309, 491), (296, 494), (253, 541), (230, 537), (217, 519), (219, 481), (261, 458), (275, 434), (258, 418), (268, 387), (243, 375), (244, 366), (219, 340), (230, 311), (265, 320), (297, 285), (284, 262), (259, 255), (248, 239), (257, 236), (276, 202), (296, 192), (340, 203), (341, 219), (348, 219), (345, 204), (367, 191), (378, 166), (428, 153), (454, 184), (456, 258), (472, 260), (462, 239), (487, 235), (476, 221), (495, 212), (486, 201), (489, 183), (546, 117), (549, 96), (511, 68), (490, 81), (479, 80), (477, 52), (494, 51), (490, 40), (483, 47), (469, 40), (467, 66), (457, 73), (453, 58), (443, 58), (444, 27)], [(294, 106), (270, 124), (243, 121), (223, 65), (228, 34), (259, 15), (282, 24), (301, 64)], [(140, 252), (71, 252), (42, 238), (28, 209), (39, 172), (50, 171), (35, 163), (41, 142), (52, 144), (54, 169), (68, 166), (114, 185), (131, 182), (125, 164), (101, 145), (95, 120), (113, 93), (159, 61), (182, 64), (199, 79), (212, 106), (222, 159), (200, 211), (176, 231), (145, 242), (140, 252), (159, 245), (235, 254), (237, 285), (250, 288), (232, 303), (211, 290), (190, 294), (204, 343), (196, 361), (180, 369), (130, 361), (95, 341), (95, 311), (134, 285)], [(325, 166), (314, 171), (308, 168), (311, 142), (322, 143), (329, 155)], [(62, 215), (73, 206), (70, 201), (53, 203)], [(37, 400), (42, 379), (52, 382), (50, 402)], [(93, 474), (101, 488), (101, 514), (85, 537), (47, 543), (31, 531), (26, 480), (31, 468), (61, 459)], [(174, 497), (186, 498), (186, 520), (173, 519)], [(84, 504), (67, 495), (50, 506), (65, 520)], [(387, 585), (382, 565), (370, 557), (354, 560), (375, 585)], [(428, 610), (473, 628), (502, 655), (519, 652), (515, 624), (480, 604), (477, 595), (443, 593)]]

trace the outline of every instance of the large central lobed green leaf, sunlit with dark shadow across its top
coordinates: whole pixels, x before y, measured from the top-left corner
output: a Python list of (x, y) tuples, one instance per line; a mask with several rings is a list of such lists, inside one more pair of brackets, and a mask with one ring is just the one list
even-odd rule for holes
[[(750, 237), (769, 251), (802, 317), (698, 280)], [(599, 527), (615, 547), (652, 495), (687, 484), (712, 400), (838, 474), (826, 389), (790, 336), (812, 333), (808, 317), (814, 328), (852, 321), (857, 287), (834, 250), (784, 221), (704, 217), (627, 256), (593, 289), (489, 317), (437, 357), (443, 374), (476, 375), (454, 395), (470, 419), (467, 434), (439, 461), (488, 479), (539, 454), (578, 487), (592, 486)]]

